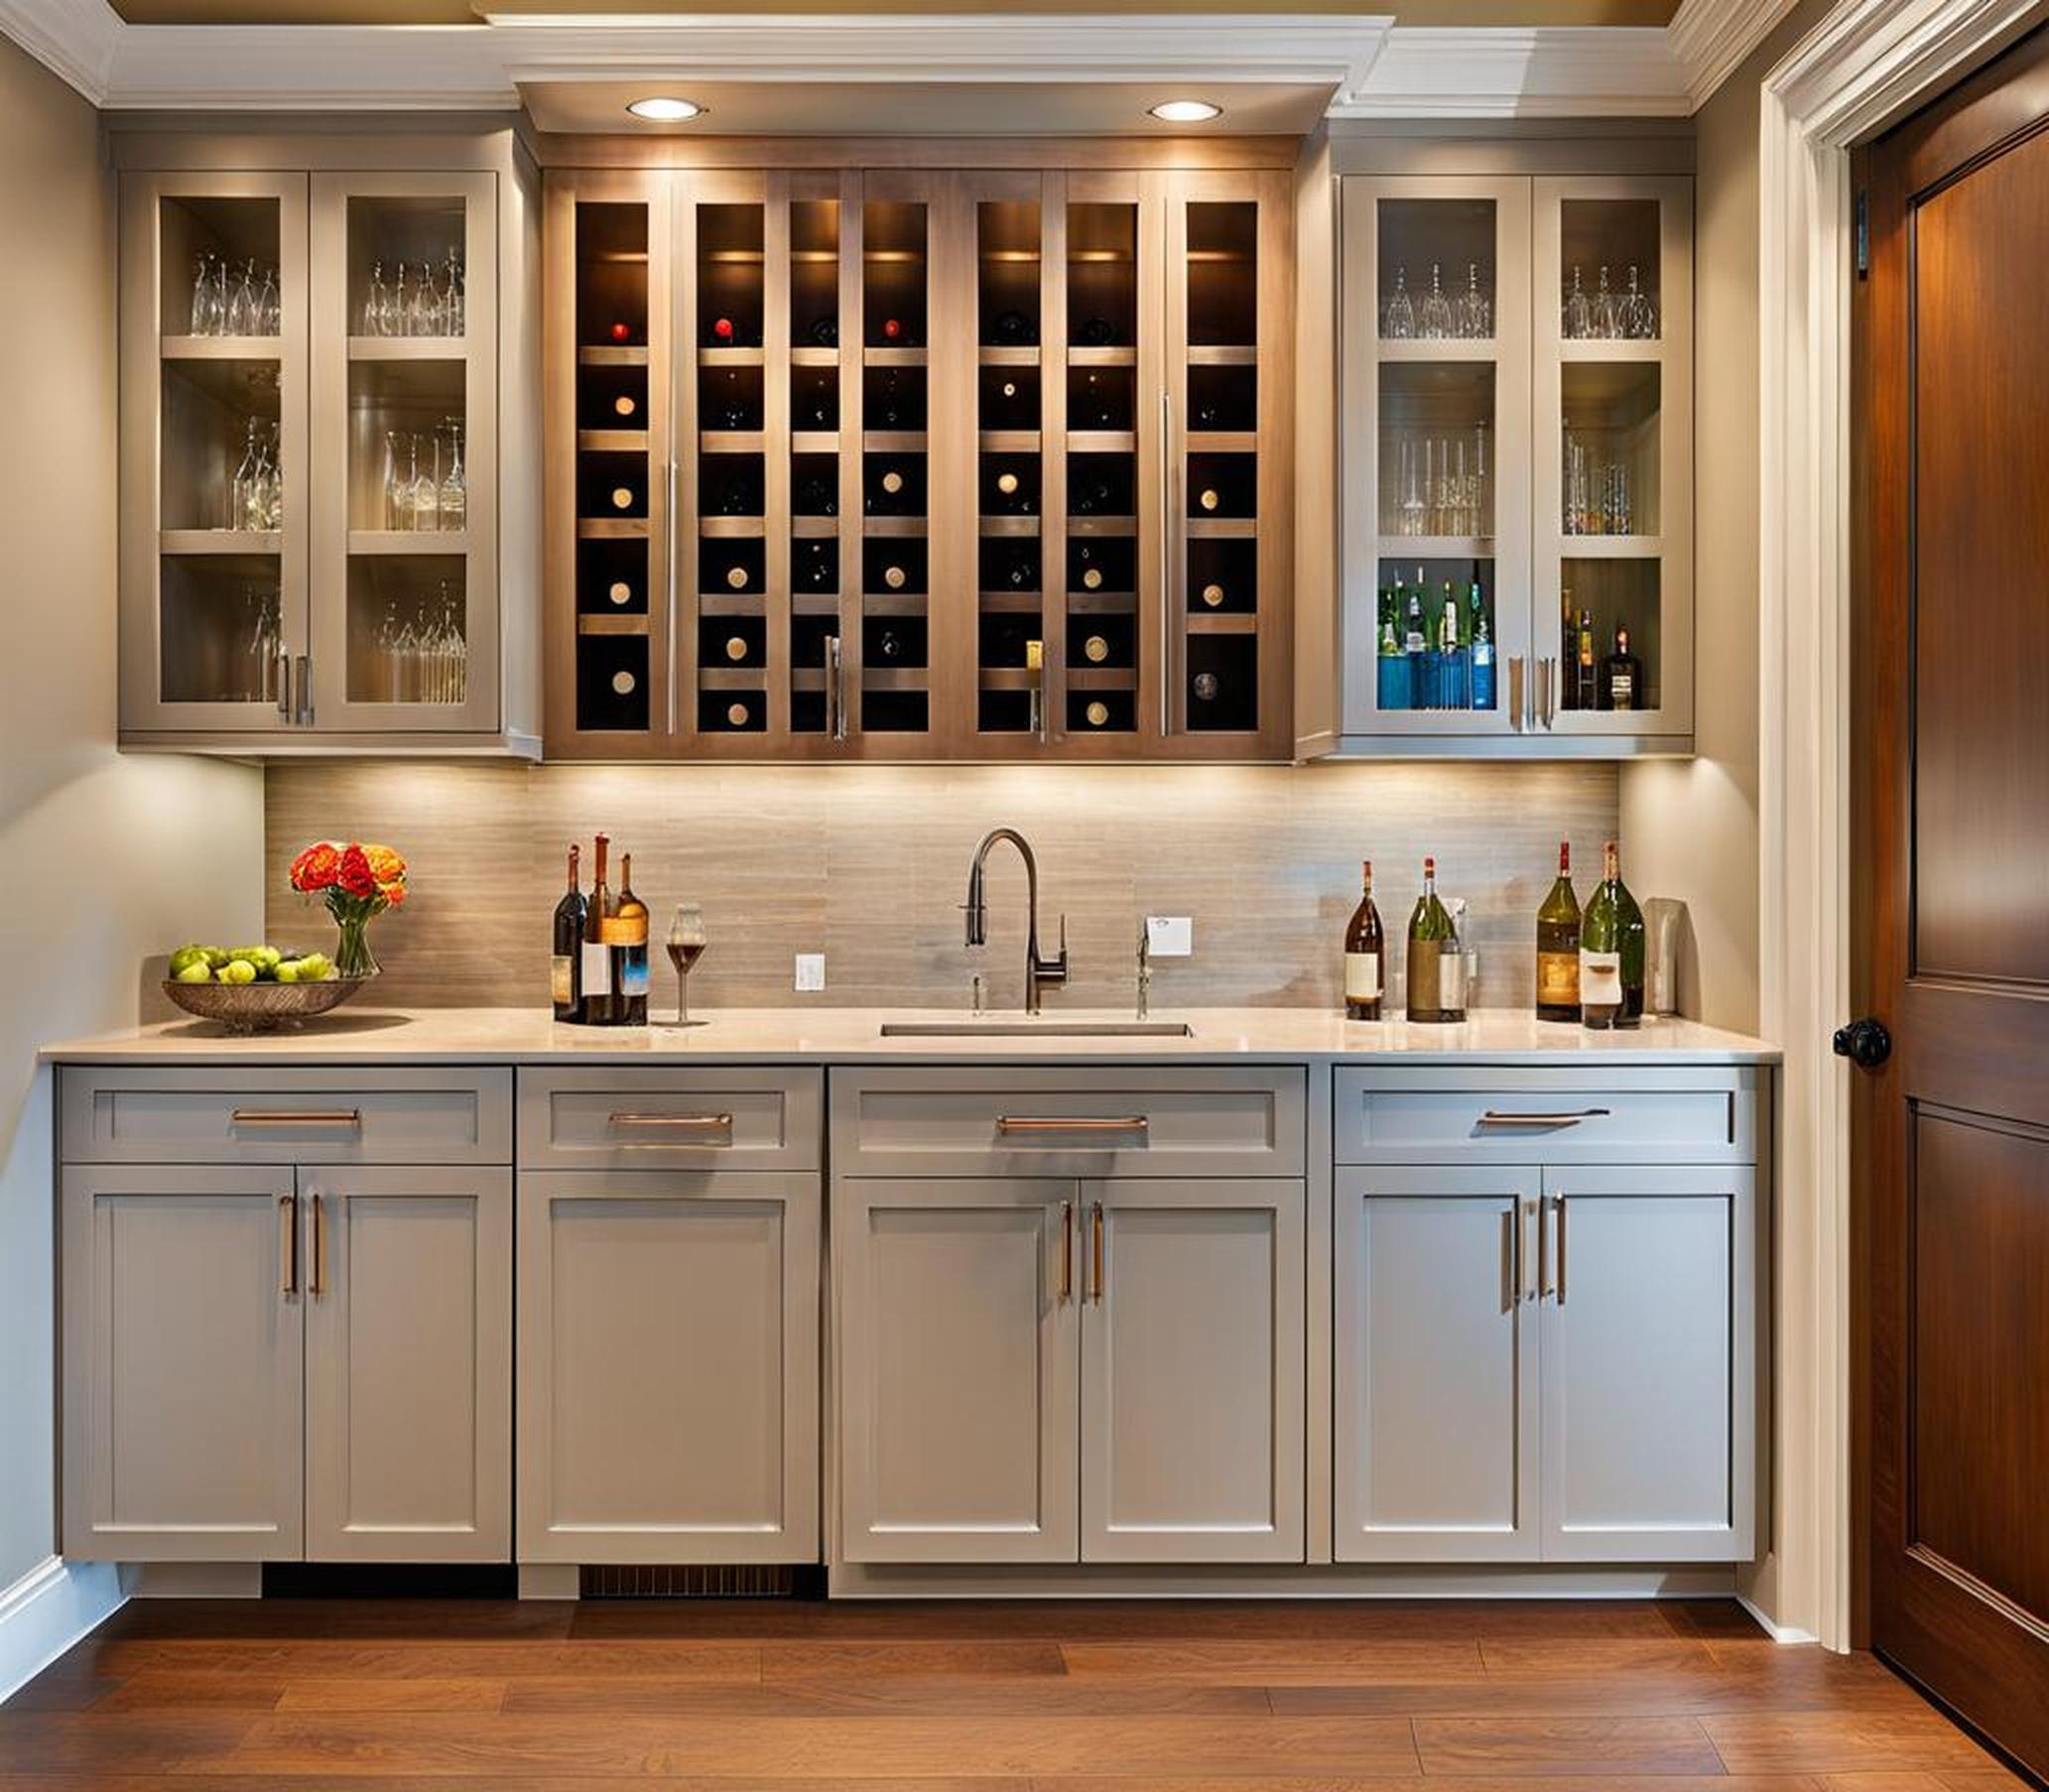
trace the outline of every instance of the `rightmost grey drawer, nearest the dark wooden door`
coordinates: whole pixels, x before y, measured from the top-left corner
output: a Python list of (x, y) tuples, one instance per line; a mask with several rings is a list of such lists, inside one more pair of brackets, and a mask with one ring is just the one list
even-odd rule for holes
[(1340, 1069), (1338, 1163), (1754, 1163), (1760, 1071)]

